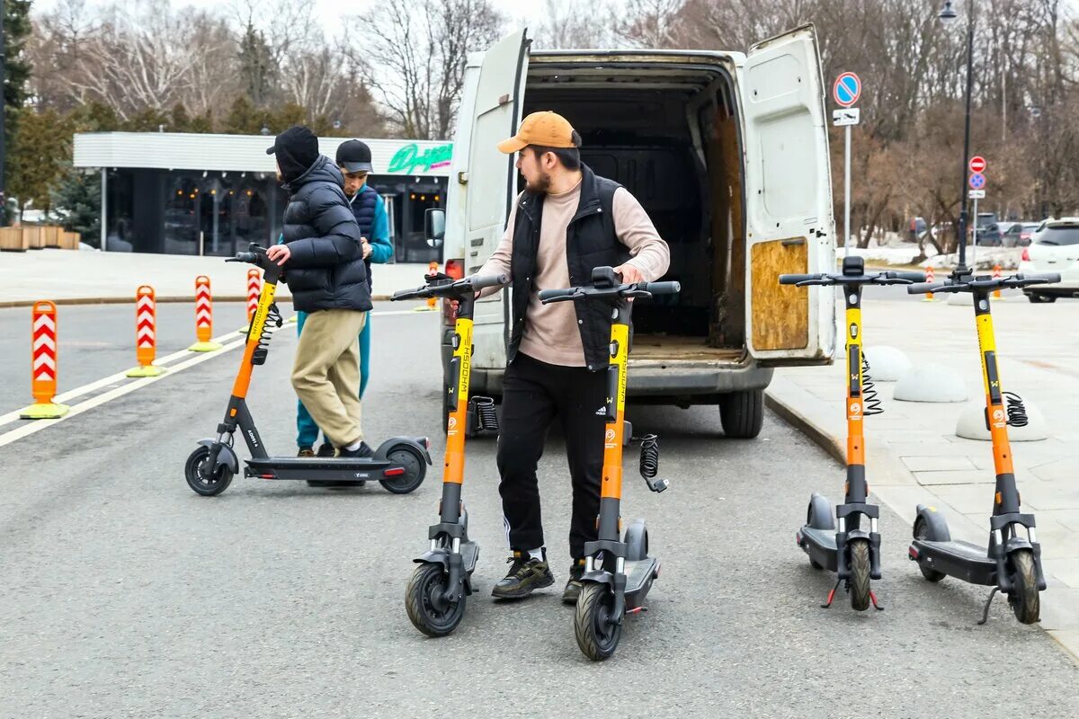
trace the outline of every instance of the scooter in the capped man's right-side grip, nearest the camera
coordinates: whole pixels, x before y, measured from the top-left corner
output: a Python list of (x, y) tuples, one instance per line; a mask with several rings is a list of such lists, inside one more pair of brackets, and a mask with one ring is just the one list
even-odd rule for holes
[[(592, 269), (592, 284), (568, 289), (541, 290), (540, 300), (551, 302), (597, 302), (611, 307), (611, 363), (606, 372), (607, 429), (603, 438), (603, 480), (600, 485), (599, 538), (585, 542), (585, 573), (577, 597), (573, 628), (577, 647), (590, 660), (614, 653), (622, 638), (627, 614), (646, 611), (644, 598), (659, 577), (659, 561), (648, 556), (648, 530), (643, 520), (630, 522), (622, 534), (622, 453), (626, 431), (626, 367), (629, 329), (633, 312), (631, 299), (655, 294), (677, 294), (678, 282), (623, 284), (611, 267)], [(648, 434), (641, 442), (641, 476), (653, 492), (667, 488), (667, 480), (656, 478), (659, 445)]]

